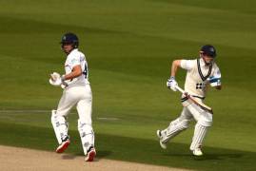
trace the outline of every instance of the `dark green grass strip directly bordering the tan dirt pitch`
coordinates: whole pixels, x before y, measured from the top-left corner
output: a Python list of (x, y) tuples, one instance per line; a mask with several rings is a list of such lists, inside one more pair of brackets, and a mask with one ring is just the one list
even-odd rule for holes
[[(69, 131), (71, 144), (64, 160), (83, 156), (77, 131)], [(0, 123), (0, 144), (54, 151), (55, 136), (51, 128)], [(255, 170), (256, 153), (225, 148), (205, 147), (205, 156), (195, 158), (189, 145), (172, 142), (164, 151), (158, 141), (96, 134), (97, 161), (112, 159), (165, 165), (196, 170)]]

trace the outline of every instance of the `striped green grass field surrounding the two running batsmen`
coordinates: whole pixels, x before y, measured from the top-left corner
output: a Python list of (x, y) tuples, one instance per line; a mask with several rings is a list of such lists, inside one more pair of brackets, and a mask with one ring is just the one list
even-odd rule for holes
[[(50, 86), (48, 77), (52, 71), (63, 73), (65, 56), (58, 43), (73, 31), (89, 61), (99, 158), (255, 170), (254, 5), (252, 0), (0, 1), (0, 144), (49, 151), (56, 146), (49, 117), (61, 89)], [(180, 94), (166, 88), (170, 63), (196, 57), (207, 43), (217, 48), (224, 88), (208, 93), (214, 123), (206, 156), (189, 153), (193, 124), (162, 151), (155, 130), (182, 109)], [(180, 85), (184, 77), (179, 71)], [(72, 113), (68, 152), (83, 155), (76, 120)]]

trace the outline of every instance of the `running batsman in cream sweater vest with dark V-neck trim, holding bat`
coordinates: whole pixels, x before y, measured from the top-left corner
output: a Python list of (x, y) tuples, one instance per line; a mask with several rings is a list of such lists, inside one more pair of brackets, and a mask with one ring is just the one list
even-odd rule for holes
[[(185, 91), (197, 101), (203, 103), (206, 98), (207, 86), (214, 86), (221, 89), (221, 72), (216, 65), (216, 49), (206, 45), (200, 50), (200, 58), (194, 60), (174, 60), (171, 66), (170, 78), (167, 80), (167, 87), (173, 91), (177, 90), (175, 75), (177, 69), (182, 67), (187, 70)], [(162, 148), (167, 148), (167, 142), (176, 135), (186, 130), (190, 121), (197, 123), (190, 145), (190, 150), (195, 156), (202, 156), (202, 145), (207, 135), (207, 129), (212, 125), (212, 113), (202, 109), (199, 105), (189, 101), (187, 96), (182, 96), (183, 111), (176, 120), (169, 123), (166, 129), (157, 130), (157, 136)]]

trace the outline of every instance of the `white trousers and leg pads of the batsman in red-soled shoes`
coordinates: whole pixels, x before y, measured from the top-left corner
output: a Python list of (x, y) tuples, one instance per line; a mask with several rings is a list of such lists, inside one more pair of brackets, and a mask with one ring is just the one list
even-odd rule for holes
[(90, 85), (71, 86), (63, 91), (57, 110), (52, 112), (51, 123), (59, 143), (68, 136), (67, 116), (76, 105), (79, 120), (77, 128), (81, 137), (85, 155), (90, 146), (94, 146), (94, 132), (91, 122), (92, 95)]

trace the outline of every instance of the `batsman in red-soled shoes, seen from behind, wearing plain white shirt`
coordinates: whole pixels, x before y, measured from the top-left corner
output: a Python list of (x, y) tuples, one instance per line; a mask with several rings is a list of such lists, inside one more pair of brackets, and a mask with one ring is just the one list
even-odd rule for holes
[(81, 137), (85, 161), (93, 161), (96, 150), (94, 148), (94, 133), (91, 123), (92, 96), (89, 85), (89, 70), (86, 56), (78, 50), (78, 37), (73, 33), (66, 33), (61, 41), (62, 49), (67, 55), (65, 63), (65, 75), (56, 72), (50, 74), (51, 85), (62, 86), (63, 95), (56, 110), (51, 112), (51, 123), (59, 142), (57, 153), (64, 152), (69, 146), (68, 114), (76, 105), (79, 115), (77, 121), (78, 131)]

